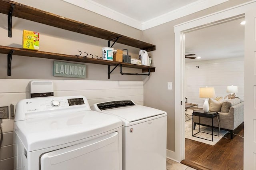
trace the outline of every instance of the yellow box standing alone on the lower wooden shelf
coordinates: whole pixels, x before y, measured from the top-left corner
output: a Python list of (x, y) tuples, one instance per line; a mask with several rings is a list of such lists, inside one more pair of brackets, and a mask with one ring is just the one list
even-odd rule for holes
[(39, 32), (23, 30), (22, 47), (39, 50)]

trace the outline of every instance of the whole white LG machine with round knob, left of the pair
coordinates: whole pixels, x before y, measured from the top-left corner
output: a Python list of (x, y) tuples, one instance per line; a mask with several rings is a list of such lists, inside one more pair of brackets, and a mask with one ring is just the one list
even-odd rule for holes
[(16, 105), (18, 170), (122, 170), (120, 119), (92, 111), (84, 96), (23, 99)]

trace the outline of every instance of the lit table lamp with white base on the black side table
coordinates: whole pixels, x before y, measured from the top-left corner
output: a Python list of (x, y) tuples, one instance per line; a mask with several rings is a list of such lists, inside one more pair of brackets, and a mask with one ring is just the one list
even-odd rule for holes
[[(199, 88), (199, 97), (200, 98), (216, 97), (214, 87), (200, 87)], [(208, 99), (205, 99), (203, 109), (205, 112), (209, 111)]]

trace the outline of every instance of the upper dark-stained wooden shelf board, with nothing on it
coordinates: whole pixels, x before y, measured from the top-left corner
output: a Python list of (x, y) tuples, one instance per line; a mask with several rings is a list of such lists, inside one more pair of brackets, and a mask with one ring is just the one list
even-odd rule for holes
[(52, 14), (50, 12), (45, 12), (45, 11), (42, 11), (42, 10), (39, 10), (36, 8), (32, 8), (30, 6), (26, 6), (24, 4), (13, 2), (10, 0), (0, 0), (0, 13), (8, 15), (12, 4), (15, 5), (13, 12), (12, 12), (12, 16), (16, 16), (18, 18), (23, 18), (26, 20), (34, 21), (34, 22), (39, 22), (39, 23), (46, 24), (49, 26), (54, 26), (54, 27), (62, 28), (62, 29), (69, 30), (72, 32), (78, 32), (81, 34), (85, 34), (88, 36), (93, 36), (93, 37), (97, 37), (97, 38), (101, 38), (101, 39), (105, 39), (105, 40), (112, 40), (114, 38), (120, 37), (116, 41), (117, 43), (144, 49), (146, 51), (156, 50), (156, 45), (142, 42), (140, 40), (136, 40), (136, 39), (133, 39), (133, 38), (130, 38), (127, 36), (123, 36), (121, 34), (116, 34), (114, 32), (110, 32), (108, 30), (90, 26), (90, 25), (82, 23), (82, 22), (64, 18), (62, 16), (58, 16), (58, 15)]

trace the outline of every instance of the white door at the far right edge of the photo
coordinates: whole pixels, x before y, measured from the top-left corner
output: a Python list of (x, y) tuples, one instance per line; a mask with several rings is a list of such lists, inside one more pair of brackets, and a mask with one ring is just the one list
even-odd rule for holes
[(256, 10), (245, 13), (244, 169), (256, 170)]

